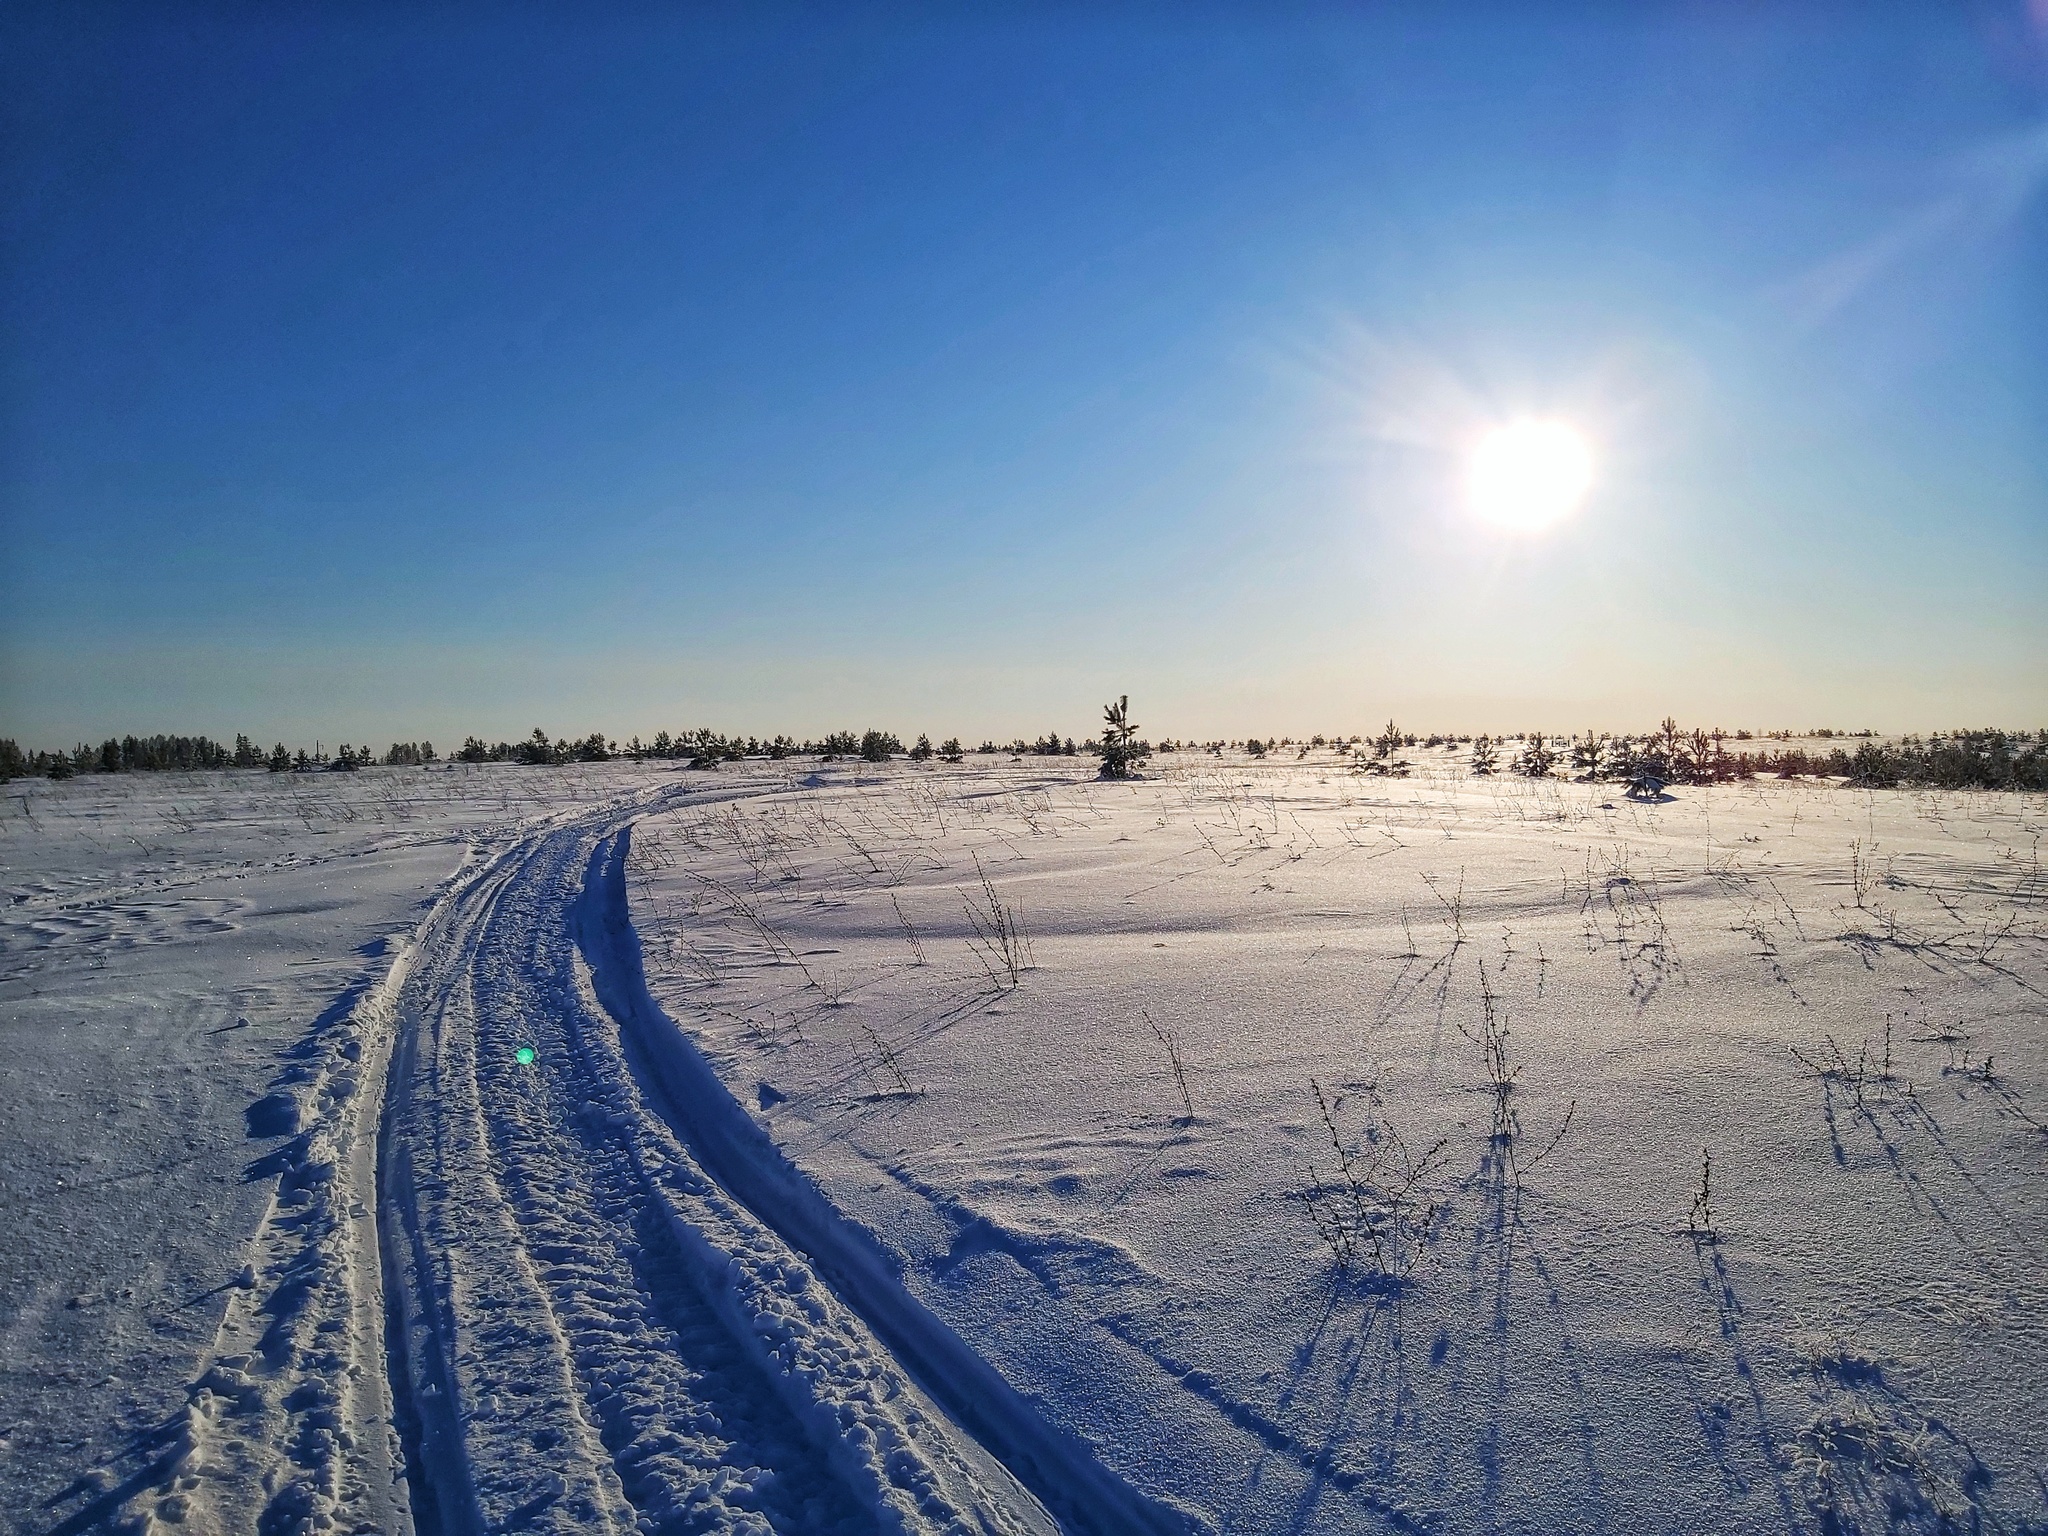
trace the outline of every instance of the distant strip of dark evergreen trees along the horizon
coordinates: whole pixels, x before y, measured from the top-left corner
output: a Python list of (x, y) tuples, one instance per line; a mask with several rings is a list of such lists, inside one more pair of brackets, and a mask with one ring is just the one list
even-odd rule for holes
[[(1847, 731), (1812, 731), (1821, 741), (1843, 739)], [(1769, 739), (1784, 741), (1782, 748), (1765, 745)], [(1137, 760), (1151, 754), (1214, 754), (1225, 750), (1249, 752), (1255, 758), (1292, 752), (1307, 758), (1311, 752), (1333, 752), (1360, 772), (1405, 776), (1409, 764), (1401, 752), (1407, 748), (1456, 748), (1466, 752), (1475, 774), (1522, 774), (1530, 778), (1577, 778), (1577, 780), (1622, 780), (1653, 776), (1667, 782), (1714, 784), (1757, 778), (1772, 774), (1778, 778), (1837, 778), (1870, 788), (1896, 788), (1925, 784), (1935, 788), (2019, 788), (2048, 791), (2048, 729), (2042, 731), (1948, 731), (1927, 737), (1909, 735), (1901, 741), (1878, 741), (1870, 731), (1853, 733), (1853, 750), (1843, 745), (1804, 748), (1792, 745), (1790, 731), (1772, 731), (1755, 737), (1749, 731), (1679, 731), (1673, 721), (1665, 721), (1657, 731), (1645, 735), (1606, 735), (1587, 731), (1583, 737), (1546, 737), (1540, 731), (1520, 735), (1438, 735), (1417, 737), (1401, 731), (1391, 721), (1384, 731), (1372, 737), (1360, 735), (1315, 735), (1292, 737), (1243, 737), (1235, 741), (1176, 741), (1163, 739), (1157, 748), (1151, 741), (1135, 741)], [(1731, 745), (1733, 743), (1733, 745)], [(1501, 752), (1518, 748), (1503, 760)], [(393, 741), (377, 752), (362, 743), (340, 743), (332, 752), (324, 743), (307, 748), (287, 748), (283, 741), (264, 750), (250, 737), (238, 735), (233, 745), (223, 745), (207, 735), (123, 735), (106, 737), (100, 745), (80, 743), (70, 752), (25, 752), (12, 737), (0, 737), (0, 782), (10, 778), (72, 778), (74, 774), (123, 774), (123, 772), (195, 772), (195, 770), (268, 770), (285, 772), (354, 772), (360, 768), (426, 768), (434, 764), (526, 764), (559, 766), (578, 762), (627, 760), (676, 760), (692, 768), (717, 768), (723, 762), (743, 762), (748, 758), (858, 758), (862, 762), (889, 762), (909, 758), (928, 762), (961, 762), (967, 748), (958, 737), (940, 745), (920, 735), (909, 748), (891, 731), (831, 731), (823, 739), (799, 741), (788, 735), (760, 739), (754, 735), (721, 735), (709, 727), (670, 735), (659, 731), (651, 741), (637, 735), (625, 745), (592, 731), (586, 737), (549, 737), (535, 727), (522, 741), (485, 741), (471, 735), (463, 745), (442, 758), (432, 741)], [(983, 741), (975, 748), (981, 756), (1081, 756), (1104, 752), (1098, 739), (1075, 741), (1049, 731), (1026, 741), (1016, 737), (1008, 743)]]

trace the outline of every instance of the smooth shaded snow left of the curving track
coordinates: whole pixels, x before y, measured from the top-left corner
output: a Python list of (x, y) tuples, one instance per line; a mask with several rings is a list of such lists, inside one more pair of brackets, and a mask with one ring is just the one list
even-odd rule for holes
[(0, 1507), (23, 1530), (98, 1518), (158, 1481), (272, 1200), (301, 1047), (373, 985), (469, 836), (514, 825), (512, 797), (537, 788), (471, 774), (6, 788)]

